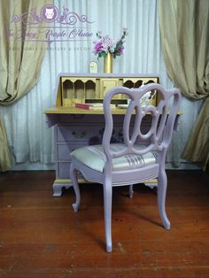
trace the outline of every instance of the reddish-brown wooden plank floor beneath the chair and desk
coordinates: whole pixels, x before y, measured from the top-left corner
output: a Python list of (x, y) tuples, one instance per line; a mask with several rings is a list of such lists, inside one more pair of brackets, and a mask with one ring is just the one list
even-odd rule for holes
[(157, 197), (143, 185), (113, 190), (113, 252), (104, 247), (103, 190), (52, 197), (53, 172), (0, 174), (0, 277), (209, 277), (209, 175), (168, 171), (161, 227)]

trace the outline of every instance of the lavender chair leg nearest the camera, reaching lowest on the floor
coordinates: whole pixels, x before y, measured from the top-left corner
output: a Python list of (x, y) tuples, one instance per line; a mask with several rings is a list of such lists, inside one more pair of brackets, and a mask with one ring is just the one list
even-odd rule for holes
[(112, 182), (107, 178), (104, 181), (104, 228), (106, 251), (112, 252)]

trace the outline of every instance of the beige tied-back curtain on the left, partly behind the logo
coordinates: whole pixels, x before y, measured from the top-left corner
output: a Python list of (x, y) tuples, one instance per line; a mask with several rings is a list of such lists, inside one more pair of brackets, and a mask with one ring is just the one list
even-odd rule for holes
[[(0, 104), (14, 103), (38, 81), (47, 44), (42, 42), (44, 34), (39, 27), (43, 27), (43, 22), (37, 17), (41, 17), (46, 3), (46, 0), (0, 1)], [(38, 39), (36, 42), (33, 35)], [(0, 138), (0, 170), (5, 171), (11, 168), (11, 158), (2, 120)]]

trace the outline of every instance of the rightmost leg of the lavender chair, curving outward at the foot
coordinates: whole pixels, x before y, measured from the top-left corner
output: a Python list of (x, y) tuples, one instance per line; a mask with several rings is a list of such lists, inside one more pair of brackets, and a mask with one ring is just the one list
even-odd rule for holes
[(166, 186), (167, 178), (165, 169), (159, 170), (158, 177), (158, 205), (159, 205), (159, 215), (166, 229), (170, 229), (170, 221), (166, 216)]

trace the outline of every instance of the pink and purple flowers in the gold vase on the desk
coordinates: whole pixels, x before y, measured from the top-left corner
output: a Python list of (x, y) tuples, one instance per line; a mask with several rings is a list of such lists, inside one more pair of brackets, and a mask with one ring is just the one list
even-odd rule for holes
[(94, 43), (93, 52), (98, 55), (98, 58), (105, 57), (107, 53), (112, 53), (113, 58), (123, 54), (125, 37), (128, 35), (128, 28), (123, 27), (122, 35), (118, 42), (112, 40), (109, 35), (102, 36), (102, 32), (97, 32), (97, 41)]

